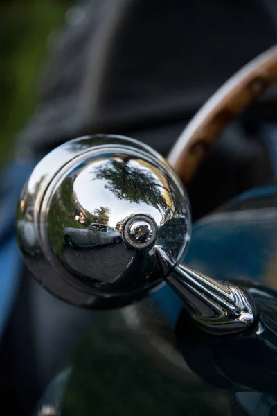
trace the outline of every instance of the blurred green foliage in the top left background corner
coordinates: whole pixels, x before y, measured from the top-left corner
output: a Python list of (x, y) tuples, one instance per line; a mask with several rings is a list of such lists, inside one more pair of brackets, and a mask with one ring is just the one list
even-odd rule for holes
[(69, 0), (0, 1), (0, 163), (35, 107), (38, 74)]

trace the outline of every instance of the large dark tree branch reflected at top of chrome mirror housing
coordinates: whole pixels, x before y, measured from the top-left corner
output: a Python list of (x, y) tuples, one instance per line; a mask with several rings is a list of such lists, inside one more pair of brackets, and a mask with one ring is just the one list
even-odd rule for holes
[(161, 212), (167, 211), (169, 206), (163, 197), (163, 190), (168, 189), (152, 173), (130, 162), (111, 160), (94, 168), (93, 174), (97, 179), (107, 181), (105, 188), (114, 193), (116, 198), (151, 205)]

